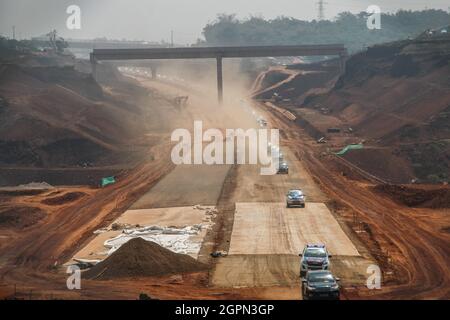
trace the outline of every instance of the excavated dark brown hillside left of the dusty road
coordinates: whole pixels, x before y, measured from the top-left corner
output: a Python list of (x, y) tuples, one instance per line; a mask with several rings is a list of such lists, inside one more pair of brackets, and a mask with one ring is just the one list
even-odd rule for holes
[[(114, 173), (95, 169), (132, 164), (144, 152), (132, 142), (152, 122), (137, 101), (149, 93), (136, 92), (139, 87), (107, 65), (101, 66), (100, 85), (89, 67), (71, 57), (0, 63), (0, 185), (95, 183)], [(114, 96), (106, 86), (115, 86)], [(84, 179), (73, 171), (65, 179), (55, 168), (90, 173)]]

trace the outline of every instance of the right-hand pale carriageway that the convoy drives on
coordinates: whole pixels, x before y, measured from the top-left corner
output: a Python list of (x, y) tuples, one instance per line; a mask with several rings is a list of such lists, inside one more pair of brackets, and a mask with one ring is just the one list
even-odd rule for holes
[[(364, 284), (371, 258), (359, 253), (358, 249), (366, 250), (344, 232), (301, 161), (287, 146), (282, 151), (289, 163), (288, 175), (261, 176), (256, 167), (237, 168), (228, 200), (235, 208), (231, 236), (224, 240), (229, 241), (228, 256), (216, 261), (211, 284), (282, 286), (291, 298), (300, 298), (298, 254), (307, 243), (327, 245), (333, 255), (331, 269), (343, 284)], [(291, 188), (305, 192), (306, 208), (286, 208), (285, 195)]]

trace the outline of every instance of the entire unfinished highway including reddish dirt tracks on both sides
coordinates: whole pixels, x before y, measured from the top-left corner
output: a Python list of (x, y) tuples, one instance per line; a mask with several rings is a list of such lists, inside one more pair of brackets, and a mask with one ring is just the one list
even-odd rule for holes
[[(166, 94), (178, 94), (181, 90), (150, 79), (140, 78), (139, 81)], [(189, 251), (187, 248), (186, 253), (208, 263), (211, 268), (208, 273), (183, 275), (182, 284), (174, 284), (173, 278), (114, 281), (108, 283), (111, 290), (106, 294), (105, 283), (83, 280), (86, 290), (70, 293), (70, 297), (79, 298), (77, 294), (80, 294), (89, 298), (135, 298), (136, 292), (141, 290), (161, 299), (299, 299), (298, 253), (308, 242), (327, 244), (333, 254), (332, 271), (342, 279), (345, 288), (363, 288), (367, 266), (379, 263), (371, 255), (377, 252), (373, 243), (379, 242), (369, 238), (363, 244), (348, 227), (347, 221), (336, 214), (333, 199), (342, 199), (362, 219), (375, 226), (375, 232), (370, 235), (377, 237), (377, 241), (387, 239), (385, 241), (398, 244), (406, 252), (405, 258), (391, 251), (391, 259), (398, 259), (398, 266), (404, 271), (405, 283), (400, 286), (391, 283), (383, 291), (372, 293), (374, 297), (448, 295), (445, 235), (434, 237), (425, 223), (410, 215), (409, 208), (377, 197), (363, 184), (350, 184), (345, 177), (329, 171), (324, 160), (316, 158), (312, 151), (313, 143), (305, 140), (301, 128), (276, 111), (268, 113), (264, 106), (249, 101), (244, 106), (237, 101), (229, 108), (214, 109), (217, 106), (204, 103), (204, 96), (191, 93), (190, 98), (189, 109), (184, 111), (187, 112), (184, 116), (202, 119), (208, 126), (223, 128), (226, 123), (231, 127), (257, 127), (255, 115), (261, 115), (268, 120), (269, 127), (280, 128), (284, 132), (281, 147), (290, 164), (289, 175), (261, 176), (257, 166), (248, 165), (174, 168), (170, 160), (170, 145), (161, 140), (144, 163), (124, 173), (116, 185), (90, 190), (89, 197), (55, 210), (42, 224), (1, 247), (2, 280), (68, 297), (64, 270), (58, 269), (51, 274), (48, 270), (73, 257), (104, 259), (105, 251), (110, 249), (105, 247), (105, 243), (110, 243), (123, 232), (103, 232), (101, 229), (115, 223), (176, 228), (208, 224), (211, 221), (206, 221), (207, 212), (215, 210), (215, 217), (209, 215), (213, 222), (210, 227), (187, 237), (198, 250)], [(166, 115), (176, 114), (170, 105), (162, 105), (152, 112), (154, 110)], [(173, 121), (176, 126), (183, 125), (179, 118), (159, 117)], [(158, 156), (153, 158), (154, 155)], [(306, 208), (285, 208), (286, 191), (298, 187), (307, 196)], [(39, 196), (37, 201), (45, 196)], [(386, 208), (391, 210), (391, 215), (385, 215)], [(380, 221), (381, 216), (387, 221)], [(408, 235), (403, 224), (411, 229), (415, 226), (417, 232)], [(398, 229), (405, 229), (404, 235), (399, 236)], [(426, 248), (437, 249), (428, 253), (417, 246), (413, 240), (417, 235), (424, 239)], [(211, 258), (211, 252), (216, 250), (227, 254)], [(438, 273), (421, 267), (431, 259), (431, 253), (435, 254), (433, 259), (436, 262), (432, 267), (440, 271)], [(414, 264), (415, 259), (422, 263)], [(390, 265), (382, 267), (390, 268)], [(30, 270), (33, 274), (24, 277)], [(425, 289), (423, 281), (426, 281)], [(358, 294), (346, 292), (344, 297), (358, 298)]]

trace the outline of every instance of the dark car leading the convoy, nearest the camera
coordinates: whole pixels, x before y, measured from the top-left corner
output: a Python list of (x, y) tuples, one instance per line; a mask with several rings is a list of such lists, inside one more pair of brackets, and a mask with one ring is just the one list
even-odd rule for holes
[(302, 279), (303, 300), (340, 298), (339, 278), (330, 271), (309, 271)]

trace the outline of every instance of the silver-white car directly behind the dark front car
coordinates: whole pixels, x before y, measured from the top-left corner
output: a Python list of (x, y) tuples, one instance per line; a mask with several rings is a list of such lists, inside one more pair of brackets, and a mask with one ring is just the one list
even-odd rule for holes
[(324, 244), (307, 244), (300, 256), (300, 277), (310, 270), (328, 270), (331, 255)]

